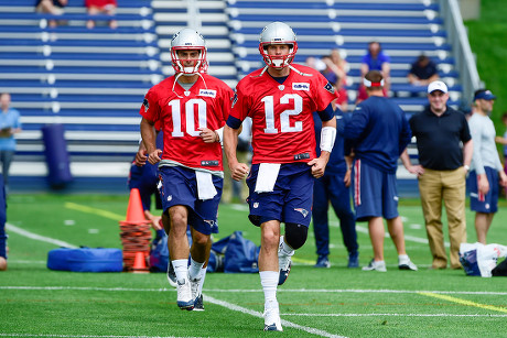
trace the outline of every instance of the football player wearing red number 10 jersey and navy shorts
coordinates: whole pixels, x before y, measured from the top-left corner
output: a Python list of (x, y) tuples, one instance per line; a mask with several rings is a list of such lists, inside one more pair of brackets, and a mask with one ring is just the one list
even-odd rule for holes
[[(176, 73), (145, 95), (140, 128), (148, 161), (159, 163), (159, 190), (171, 220), (168, 246), (177, 281), (177, 306), (192, 309), (202, 296), (209, 236), (217, 227), (224, 179), (220, 134), (233, 90), (206, 74), (205, 41), (196, 31), (183, 29), (174, 35), (171, 58)], [(163, 152), (155, 146), (155, 121), (164, 134)], [(192, 248), (187, 225), (193, 228)]]

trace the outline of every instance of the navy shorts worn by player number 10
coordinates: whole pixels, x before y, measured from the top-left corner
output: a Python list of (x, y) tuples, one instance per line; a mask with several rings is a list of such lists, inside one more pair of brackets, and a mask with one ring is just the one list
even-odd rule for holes
[(204, 235), (218, 232), (218, 204), (224, 179), (212, 175), (217, 194), (212, 199), (201, 200), (197, 195), (195, 171), (183, 166), (162, 166), (160, 172), (160, 197), (164, 212), (173, 206), (188, 209), (188, 225)]

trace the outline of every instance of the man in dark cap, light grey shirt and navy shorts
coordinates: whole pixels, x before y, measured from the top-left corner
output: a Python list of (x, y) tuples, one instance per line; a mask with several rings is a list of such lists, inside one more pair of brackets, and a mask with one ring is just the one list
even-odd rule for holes
[(495, 144), (496, 130), (489, 115), (496, 96), (486, 89), (475, 91), (474, 115), (468, 128), (474, 140), (471, 173), (468, 176), (470, 207), (475, 211), (477, 242), (486, 244), (486, 235), (498, 210), (499, 181), (507, 185), (500, 157)]

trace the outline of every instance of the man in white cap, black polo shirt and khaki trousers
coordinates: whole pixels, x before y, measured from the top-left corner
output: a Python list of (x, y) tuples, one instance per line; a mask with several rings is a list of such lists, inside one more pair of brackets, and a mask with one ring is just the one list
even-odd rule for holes
[(407, 152), (401, 155), (401, 161), (410, 173), (418, 175), (433, 258), (431, 269), (447, 268), (442, 200), (447, 214), (451, 268), (461, 269), (460, 244), (466, 242), (465, 177), (472, 161), (473, 141), (465, 116), (447, 106), (447, 86), (443, 81), (436, 80), (428, 86), (428, 100), (430, 105), (409, 121), (417, 139), (419, 164), (412, 165)]

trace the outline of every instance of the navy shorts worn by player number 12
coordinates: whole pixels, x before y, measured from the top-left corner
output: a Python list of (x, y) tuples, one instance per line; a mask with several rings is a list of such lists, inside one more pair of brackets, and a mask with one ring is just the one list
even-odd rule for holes
[(306, 163), (282, 164), (271, 193), (255, 192), (258, 172), (259, 164), (254, 164), (247, 177), (250, 221), (257, 227), (269, 220), (309, 227), (314, 182), (311, 167)]

